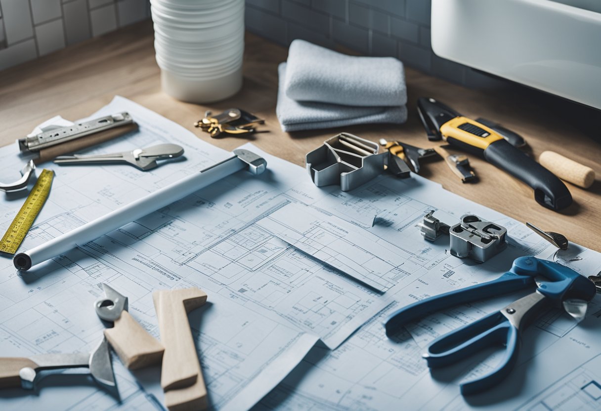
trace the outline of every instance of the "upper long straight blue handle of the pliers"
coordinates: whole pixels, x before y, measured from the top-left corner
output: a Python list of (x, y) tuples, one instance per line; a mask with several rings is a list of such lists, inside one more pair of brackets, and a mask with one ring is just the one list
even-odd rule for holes
[(404, 306), (388, 315), (383, 324), (386, 328), (386, 333), (393, 335), (400, 327), (410, 321), (425, 317), (432, 312), (499, 294), (522, 290), (532, 284), (534, 284), (534, 277), (532, 275), (517, 275), (507, 272), (493, 281), (449, 291), (448, 293), (439, 294), (438, 296), (429, 297)]

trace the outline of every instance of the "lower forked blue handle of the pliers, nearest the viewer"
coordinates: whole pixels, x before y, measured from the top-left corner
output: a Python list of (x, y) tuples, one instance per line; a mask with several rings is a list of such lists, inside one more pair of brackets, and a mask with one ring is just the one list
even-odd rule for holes
[(499, 364), (490, 373), (460, 384), (463, 395), (477, 394), (501, 382), (517, 361), (519, 331), (500, 311), (435, 339), (424, 358), (430, 368), (445, 367), (495, 345), (506, 347), (505, 356)]

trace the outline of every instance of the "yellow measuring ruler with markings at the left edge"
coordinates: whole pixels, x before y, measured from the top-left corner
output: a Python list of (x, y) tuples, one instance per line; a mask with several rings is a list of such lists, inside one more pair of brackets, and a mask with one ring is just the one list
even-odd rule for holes
[(13, 222), (11, 222), (8, 230), (4, 233), (4, 237), (0, 240), (0, 251), (10, 254), (17, 252), (29, 228), (34, 224), (34, 220), (40, 212), (41, 207), (46, 202), (46, 198), (48, 198), (53, 178), (53, 171), (44, 169), (41, 172), (31, 193), (27, 196), (25, 204), (23, 204), (23, 207), (21, 207)]

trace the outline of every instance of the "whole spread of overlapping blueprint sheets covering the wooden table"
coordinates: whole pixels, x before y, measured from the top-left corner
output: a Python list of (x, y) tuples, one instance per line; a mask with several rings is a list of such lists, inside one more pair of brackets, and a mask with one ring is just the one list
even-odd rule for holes
[[(185, 148), (185, 159), (147, 172), (127, 165), (45, 164), (56, 177), (22, 250), (230, 155), (120, 97), (91, 117), (120, 111), (132, 114), (139, 132), (88, 152), (172, 142)], [(28, 272), (17, 273), (10, 256), (0, 257), (2, 356), (90, 350), (102, 336), (93, 308), (102, 282), (129, 297), (130, 313), (155, 336), (151, 291), (195, 286), (209, 296), (189, 318), (212, 409), (244, 410), (256, 403), (257, 409), (293, 410), (399, 404), (569, 409), (574, 403), (562, 405), (559, 392), (589, 407), (599, 404), (590, 399), (601, 382), (599, 309), (591, 308), (578, 326), (559, 311), (543, 315), (525, 335), (516, 382), (484, 403), (466, 403), (457, 383), (494, 365), (500, 352), (484, 353), (483, 364), (463, 364), (442, 377), (430, 375), (421, 353), (437, 336), (519, 295), (430, 315), (391, 339), (381, 324), (399, 306), (494, 279), (522, 255), (590, 275), (601, 271), (599, 253), (577, 245), (557, 252), (522, 223), (419, 176), (382, 175), (350, 193), (319, 189), (299, 166), (243, 147), (266, 158), (264, 174), (238, 172)], [(0, 148), (3, 180), (18, 177), (23, 160), (16, 152), (15, 146)], [(23, 198), (0, 194), (0, 230)], [(473, 213), (504, 225), (508, 248), (484, 264), (453, 257), (448, 238), (429, 243), (419, 234), (416, 225), (429, 210), (448, 224)], [(570, 352), (561, 364), (545, 361), (560, 352)], [(34, 394), (0, 391), (0, 408), (162, 409), (160, 370), (132, 374), (113, 360), (119, 399), (70, 371), (41, 380)], [(519, 389), (525, 381), (528, 388)], [(514, 394), (500, 398), (502, 392)]]

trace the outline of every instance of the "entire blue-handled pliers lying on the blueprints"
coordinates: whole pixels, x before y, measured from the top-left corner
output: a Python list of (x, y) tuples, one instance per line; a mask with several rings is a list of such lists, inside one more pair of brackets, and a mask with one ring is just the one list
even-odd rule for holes
[(514, 301), (473, 323), (439, 336), (424, 354), (430, 368), (444, 367), (493, 344), (507, 347), (501, 363), (478, 379), (460, 385), (463, 395), (477, 394), (492, 388), (503, 380), (517, 361), (520, 332), (527, 327), (543, 308), (561, 307), (566, 299), (593, 299), (596, 287), (590, 279), (569, 267), (535, 257), (520, 257), (513, 261), (511, 270), (496, 280), (429, 297), (398, 309), (386, 318), (386, 333), (392, 335), (406, 323), (432, 312), (452, 306), (509, 293), (531, 285), (534, 293)]

